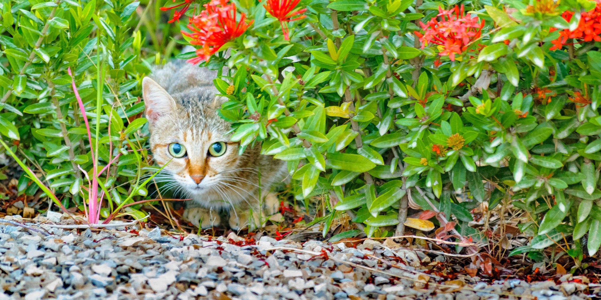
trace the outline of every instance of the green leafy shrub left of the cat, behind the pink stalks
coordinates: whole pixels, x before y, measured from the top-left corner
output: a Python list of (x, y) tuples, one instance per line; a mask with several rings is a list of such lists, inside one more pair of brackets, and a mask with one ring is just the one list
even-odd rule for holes
[[(160, 53), (149, 53), (145, 40), (155, 41), (157, 49), (166, 48), (163, 53), (168, 57), (175, 42), (165, 43), (168, 34), (165, 41), (156, 37), (153, 30), (168, 33), (174, 26), (153, 25), (148, 14), (153, 7), (142, 11), (139, 4), (2, 1), (0, 133), (13, 140), (11, 151), (59, 194), (62, 203), (57, 205), (83, 211), (88, 197), (97, 195), (93, 200), (103, 207), (96, 212), (108, 217), (147, 193), (141, 168), (151, 161), (144, 148), (145, 119), (136, 119), (144, 109), (139, 82), (150, 73), (151, 64), (160, 62)], [(159, 12), (160, 5), (155, 8)], [(134, 17), (136, 9), (142, 20)], [(140, 27), (150, 31), (143, 33)], [(87, 120), (82, 118), (72, 82)], [(32, 183), (32, 176), (23, 173), (19, 193), (46, 194)], [(137, 209), (139, 205), (133, 205), (121, 212), (144, 217)], [(94, 218), (90, 221), (95, 223)]]

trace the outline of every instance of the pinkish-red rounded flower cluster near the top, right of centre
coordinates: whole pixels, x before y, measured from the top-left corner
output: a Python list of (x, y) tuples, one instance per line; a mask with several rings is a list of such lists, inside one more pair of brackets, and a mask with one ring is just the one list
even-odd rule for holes
[(455, 8), (451, 10), (443, 10), (438, 7), (438, 12), (437, 16), (441, 17), (441, 20), (433, 17), (427, 24), (419, 22), (426, 33), (421, 34), (421, 32), (415, 31), (415, 35), (419, 37), (422, 49), (428, 43), (441, 45), (444, 50), (438, 54), (448, 55), (451, 61), (454, 61), (455, 54), (461, 54), (462, 51), (468, 49), (469, 44), (480, 38), (484, 20), (465, 16), (463, 4), (461, 8), (455, 5)]

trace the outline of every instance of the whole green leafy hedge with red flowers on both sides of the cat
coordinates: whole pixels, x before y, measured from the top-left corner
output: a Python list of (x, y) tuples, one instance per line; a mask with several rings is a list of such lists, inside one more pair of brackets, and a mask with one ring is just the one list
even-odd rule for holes
[[(180, 27), (204, 47), (178, 58), (228, 67), (215, 84), (241, 151), (261, 142), (288, 161), (297, 200), (334, 205), (315, 220), (324, 232), (340, 211), (368, 236), (432, 230), (407, 220), (410, 206), (444, 227), (439, 238), (486, 241), (471, 210), (511, 205), (532, 241), (510, 254), (542, 259), (557, 245), (579, 260), (599, 249), (601, 32), (587, 28), (601, 23), (599, 2), (213, 1), (218, 13), (193, 16), (203, 3), (174, 5), (181, 23), (167, 23), (163, 3), (2, 2), (0, 133), (20, 137), (11, 149), (65, 206), (87, 197), (78, 165), (88, 178), (94, 166), (72, 79), (98, 166), (121, 155), (99, 178), (106, 216), (132, 192), (146, 196), (139, 81), (171, 56)], [(19, 190), (34, 194), (29, 181)]]

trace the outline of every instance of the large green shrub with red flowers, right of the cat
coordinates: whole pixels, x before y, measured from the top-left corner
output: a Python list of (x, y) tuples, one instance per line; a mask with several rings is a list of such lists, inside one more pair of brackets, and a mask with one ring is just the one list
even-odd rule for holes
[[(245, 31), (180, 57), (229, 68), (215, 84), (231, 139), (287, 161), (297, 200), (328, 198), (325, 220), (346, 211), (368, 236), (434, 228), (407, 219), (410, 206), (444, 227), (440, 238), (481, 240), (472, 209), (512, 205), (534, 236), (512, 255), (599, 249), (601, 4), (296, 3), (206, 4), (230, 19), (192, 17), (192, 44), (215, 28)], [(236, 23), (236, 10), (250, 21)]]

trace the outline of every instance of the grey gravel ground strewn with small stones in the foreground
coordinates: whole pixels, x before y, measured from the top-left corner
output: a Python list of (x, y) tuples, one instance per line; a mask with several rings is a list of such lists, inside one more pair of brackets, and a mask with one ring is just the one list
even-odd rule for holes
[[(429, 256), (394, 251), (373, 240), (347, 248), (262, 236), (246, 245), (234, 234), (208, 238), (162, 235), (157, 228), (81, 233), (44, 228), (50, 236), (0, 224), (0, 300), (584, 300), (601, 291), (601, 284), (584, 284), (587, 278), (570, 274), (560, 284), (514, 278), (487, 284), (460, 274), (453, 282), (461, 289), (444, 286), (435, 276), (424, 285), (418, 279), (429, 275), (420, 262), (427, 264)], [(315, 256), (322, 253), (329, 259)], [(399, 257), (403, 262), (397, 265)]]

